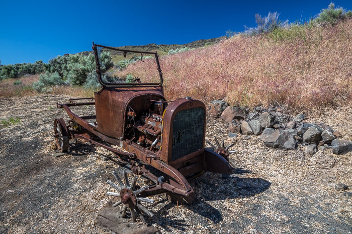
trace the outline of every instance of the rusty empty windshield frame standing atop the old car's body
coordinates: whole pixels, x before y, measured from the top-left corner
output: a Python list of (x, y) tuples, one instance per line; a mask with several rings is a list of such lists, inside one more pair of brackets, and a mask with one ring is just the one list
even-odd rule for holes
[[(106, 82), (104, 82), (103, 79), (102, 79), (102, 72), (101, 72), (101, 68), (100, 68), (101, 65), (100, 65), (100, 62), (99, 62), (99, 56), (98, 56), (97, 47), (102, 47), (102, 48), (109, 49), (109, 50), (114, 50), (114, 51), (121, 51), (121, 52), (124, 52), (124, 53), (136, 53), (136, 54), (154, 55), (155, 60), (156, 60), (157, 70), (159, 72), (160, 82), (159, 83), (106, 83)], [(159, 64), (159, 55), (157, 54), (157, 52), (143, 52), (143, 51), (123, 50), (123, 49), (117, 49), (117, 48), (114, 48), (114, 47), (102, 46), (102, 45), (94, 44), (94, 42), (93, 42), (92, 49), (94, 51), (94, 57), (95, 57), (95, 60), (96, 60), (96, 67), (97, 67), (96, 72), (98, 74), (98, 81), (103, 87), (162, 86), (162, 82), (163, 82), (162, 72), (161, 72), (161, 68), (160, 68), (160, 64)]]

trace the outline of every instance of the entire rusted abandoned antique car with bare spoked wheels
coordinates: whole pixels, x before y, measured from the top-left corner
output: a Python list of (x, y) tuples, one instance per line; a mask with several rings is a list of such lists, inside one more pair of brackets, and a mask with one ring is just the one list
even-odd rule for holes
[[(189, 181), (204, 172), (232, 174), (234, 168), (228, 161), (229, 147), (215, 139), (217, 147), (208, 142), (214, 151), (205, 148), (206, 107), (191, 97), (166, 101), (162, 87), (162, 72), (156, 52), (121, 50), (96, 45), (93, 50), (99, 83), (103, 86), (94, 98), (69, 99), (69, 103), (57, 103), (70, 118), (68, 124), (62, 118), (55, 119), (54, 133), (59, 150), (68, 150), (69, 139), (80, 139), (115, 153), (117, 162), (128, 167), (135, 175), (151, 180), (151, 185), (139, 187), (137, 177), (128, 181), (124, 170), (124, 182), (117, 171), (113, 174), (118, 184), (108, 180), (117, 191), (107, 192), (119, 198), (114, 204), (124, 205), (136, 220), (135, 212), (144, 220), (143, 214), (153, 216), (141, 202), (153, 203), (147, 196), (165, 193), (170, 201), (192, 203), (194, 190)], [(157, 69), (157, 82), (142, 83), (134, 77), (131, 83), (113, 82), (104, 78), (105, 50), (120, 53), (124, 57), (137, 54), (153, 60)], [(146, 56), (145, 56), (146, 58)], [(90, 100), (89, 100), (90, 99)], [(83, 102), (82, 102), (83, 100)], [(86, 101), (84, 101), (86, 100)], [(89, 101), (88, 101), (89, 100)], [(95, 105), (96, 115), (77, 116), (70, 107)], [(126, 151), (114, 148), (119, 146)]]

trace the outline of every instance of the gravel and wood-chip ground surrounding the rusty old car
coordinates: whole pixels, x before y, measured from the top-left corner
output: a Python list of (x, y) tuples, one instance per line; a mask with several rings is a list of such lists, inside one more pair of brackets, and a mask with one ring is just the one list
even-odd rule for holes
[[(0, 233), (105, 232), (96, 216), (109, 200), (106, 180), (114, 180), (112, 172), (121, 168), (105, 159), (110, 152), (75, 141), (68, 154), (53, 156), (53, 120), (68, 120), (56, 102), (67, 100), (57, 95), (0, 98), (0, 119), (20, 118), (19, 124), (0, 125)], [(94, 113), (87, 106), (73, 110)], [(352, 108), (308, 117), (352, 140)], [(210, 119), (207, 139), (214, 142), (216, 135), (229, 144), (233, 139), (226, 127)], [(352, 232), (352, 197), (334, 188), (352, 186), (352, 153), (334, 155), (325, 149), (309, 156), (304, 146), (268, 148), (258, 136), (246, 140), (240, 135), (235, 141), (232, 149), (238, 153), (230, 160), (237, 177), (205, 173), (193, 183), (197, 199), (189, 206), (153, 196), (148, 209), (156, 218), (148, 223), (163, 233)]]

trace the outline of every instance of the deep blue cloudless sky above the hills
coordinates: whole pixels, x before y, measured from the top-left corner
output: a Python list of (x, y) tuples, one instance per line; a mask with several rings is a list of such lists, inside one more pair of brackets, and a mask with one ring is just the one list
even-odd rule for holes
[[(184, 44), (241, 32), (254, 15), (308, 20), (331, 1), (7, 1), (0, 3), (2, 64), (48, 62), (107, 46)], [(334, 1), (352, 10), (352, 1)]]

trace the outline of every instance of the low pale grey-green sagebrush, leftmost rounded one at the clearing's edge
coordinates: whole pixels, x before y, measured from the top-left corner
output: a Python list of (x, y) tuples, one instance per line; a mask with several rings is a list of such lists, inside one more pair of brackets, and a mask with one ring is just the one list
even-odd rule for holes
[(65, 82), (57, 72), (46, 72), (45, 74), (40, 74), (39, 81), (33, 83), (32, 87), (39, 93), (48, 93), (51, 91), (50, 87), (55, 85), (63, 85), (64, 83)]

